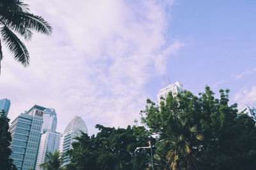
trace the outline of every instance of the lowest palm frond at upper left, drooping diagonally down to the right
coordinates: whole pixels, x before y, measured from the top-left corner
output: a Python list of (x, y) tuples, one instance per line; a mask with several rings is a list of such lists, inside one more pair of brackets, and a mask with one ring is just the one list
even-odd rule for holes
[(7, 26), (0, 29), (3, 41), (13, 53), (14, 59), (19, 60), (23, 66), (29, 65), (29, 53), (22, 41)]

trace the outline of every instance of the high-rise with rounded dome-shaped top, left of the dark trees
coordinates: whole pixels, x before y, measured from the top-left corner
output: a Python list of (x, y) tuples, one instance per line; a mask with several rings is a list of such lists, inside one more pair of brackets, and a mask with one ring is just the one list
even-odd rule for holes
[[(67, 125), (63, 136), (60, 141), (60, 153), (61, 155), (65, 154), (67, 150), (72, 148), (71, 143), (75, 141), (75, 137), (81, 136), (81, 131), (88, 134), (88, 129), (81, 117), (74, 117), (71, 122)], [(68, 164), (70, 159), (68, 156), (63, 157), (63, 166)]]

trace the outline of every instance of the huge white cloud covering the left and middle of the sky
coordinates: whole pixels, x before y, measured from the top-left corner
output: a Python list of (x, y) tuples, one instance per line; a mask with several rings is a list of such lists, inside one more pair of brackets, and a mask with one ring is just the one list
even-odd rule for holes
[(145, 106), (145, 84), (164, 74), (170, 55), (184, 46), (165, 38), (173, 1), (28, 3), (54, 32), (28, 43), (29, 67), (9, 54), (2, 62), (0, 97), (11, 99), (12, 119), (39, 104), (56, 109), (60, 132), (74, 115), (90, 132), (95, 124), (132, 124)]

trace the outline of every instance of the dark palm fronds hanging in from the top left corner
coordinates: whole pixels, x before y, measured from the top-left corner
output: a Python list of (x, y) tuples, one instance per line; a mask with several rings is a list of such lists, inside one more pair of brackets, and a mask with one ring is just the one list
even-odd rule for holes
[(31, 40), (32, 31), (51, 35), (52, 27), (44, 18), (28, 11), (28, 4), (24, 4), (22, 0), (0, 0), (0, 71), (3, 60), (2, 43), (9, 48), (15, 60), (23, 66), (29, 65), (28, 50), (15, 33), (27, 41)]

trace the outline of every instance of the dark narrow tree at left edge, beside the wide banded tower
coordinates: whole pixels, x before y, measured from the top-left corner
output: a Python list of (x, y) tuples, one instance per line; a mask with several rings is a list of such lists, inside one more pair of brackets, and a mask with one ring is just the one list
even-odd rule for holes
[(0, 112), (0, 165), (1, 169), (17, 169), (15, 165), (13, 165), (13, 159), (10, 159), (11, 155), (11, 141), (12, 137), (9, 129), (9, 122), (8, 119), (4, 114), (6, 112), (2, 110)]

